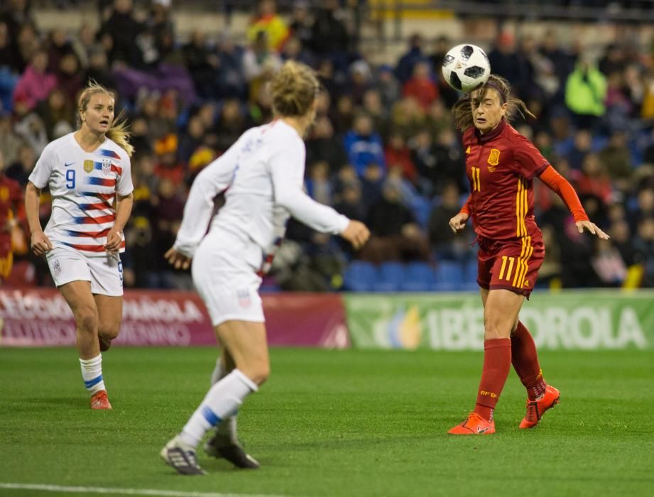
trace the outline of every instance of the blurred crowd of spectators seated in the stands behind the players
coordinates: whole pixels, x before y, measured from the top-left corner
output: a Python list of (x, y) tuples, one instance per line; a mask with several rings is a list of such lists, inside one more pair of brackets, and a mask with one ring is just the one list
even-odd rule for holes
[[(77, 4), (55, 2), (62, 15)], [(75, 130), (80, 89), (89, 80), (116, 89), (136, 148), (124, 283), (191, 288), (188, 274), (163, 260), (190, 185), (243, 131), (271, 120), (266, 82), (283, 61), (300, 60), (317, 70), (323, 87), (306, 142), (307, 192), (366, 222), (373, 236), (353, 253), (291, 222), (263, 288), (370, 289), (357, 285), (365, 271), (353, 268), (388, 263), (454, 268), (465, 281), (476, 260), (474, 234), (467, 229), (455, 237), (448, 226), (469, 191), (449, 112), (459, 95), (443, 82), (440, 66), (452, 45), (469, 40), (410, 35), (396, 60), (375, 62), (359, 50), (365, 4), (300, 0), (282, 9), (261, 0), (244, 33), (197, 29), (182, 37), (170, 0), (143, 2), (138, 10), (132, 0), (100, 0), (98, 28), (84, 24), (77, 31), (44, 31), (28, 0), (4, 0), (0, 170), (24, 188), (45, 145)], [(492, 71), (513, 84), (536, 116), (514, 126), (572, 182), (589, 217), (611, 235), (603, 241), (579, 234), (557, 195), (535, 180), (547, 248), (538, 285), (653, 287), (652, 47), (625, 38), (589, 57), (582, 43), (564, 45), (559, 34), (498, 31), (479, 43)], [(47, 192), (40, 215), (45, 226)], [(9, 283), (52, 285), (45, 261), (28, 253), (26, 226), (18, 223), (12, 239)]]

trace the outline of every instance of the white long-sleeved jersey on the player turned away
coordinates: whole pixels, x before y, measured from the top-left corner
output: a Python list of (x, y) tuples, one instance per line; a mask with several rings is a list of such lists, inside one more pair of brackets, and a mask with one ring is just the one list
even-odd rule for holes
[(224, 190), (225, 204), (211, 231), (224, 229), (261, 246), (261, 273), (268, 270), (291, 215), (317, 231), (339, 234), (349, 219), (303, 192), (304, 168), (304, 141), (288, 124), (276, 120), (249, 129), (195, 178), (175, 249), (193, 255), (207, 232), (213, 199)]

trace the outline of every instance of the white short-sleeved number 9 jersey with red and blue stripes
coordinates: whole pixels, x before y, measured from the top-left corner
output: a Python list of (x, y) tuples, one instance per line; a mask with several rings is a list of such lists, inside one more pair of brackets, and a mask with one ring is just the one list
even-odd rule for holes
[[(50, 187), (53, 209), (45, 234), (87, 256), (104, 256), (107, 233), (114, 225), (116, 192), (129, 195), (129, 155), (106, 138), (93, 152), (85, 152), (73, 133), (43, 149), (29, 180), (37, 188)], [(125, 251), (125, 238), (120, 248)]]

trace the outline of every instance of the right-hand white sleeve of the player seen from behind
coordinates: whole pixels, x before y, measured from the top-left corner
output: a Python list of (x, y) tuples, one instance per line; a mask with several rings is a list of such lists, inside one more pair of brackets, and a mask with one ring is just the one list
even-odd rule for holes
[(290, 146), (276, 153), (269, 164), (275, 202), (287, 209), (291, 216), (321, 233), (340, 234), (347, 228), (347, 217), (303, 192), (304, 146)]

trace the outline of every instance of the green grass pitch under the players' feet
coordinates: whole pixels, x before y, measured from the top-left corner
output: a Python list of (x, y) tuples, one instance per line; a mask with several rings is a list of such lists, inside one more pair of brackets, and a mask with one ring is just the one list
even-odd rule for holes
[[(89, 409), (74, 349), (0, 349), (0, 484), (281, 496), (654, 495), (654, 351), (540, 356), (562, 392), (534, 430), (512, 371), (497, 434), (452, 437), (481, 353), (273, 349), (239, 433), (262, 464), (208, 476), (158, 458), (209, 386), (216, 350), (104, 354), (111, 411)], [(0, 487), (1, 496), (67, 495)], [(90, 495), (90, 494), (89, 494)]]

